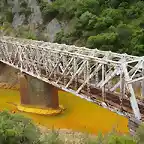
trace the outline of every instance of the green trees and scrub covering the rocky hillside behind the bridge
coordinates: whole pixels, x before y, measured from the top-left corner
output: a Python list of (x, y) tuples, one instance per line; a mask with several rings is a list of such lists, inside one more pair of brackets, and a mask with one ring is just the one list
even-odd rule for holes
[[(11, 1), (11, 0), (9, 0)], [(133, 55), (144, 54), (144, 1), (143, 0), (37, 0), (42, 23), (34, 28), (28, 25), (32, 10), (27, 0), (20, 0), (19, 14), (25, 15), (23, 25), (13, 29), (12, 4), (0, 3), (0, 24), (6, 34), (32, 39), (48, 40), (43, 31), (53, 18), (73, 22), (56, 35), (55, 42), (111, 50)], [(38, 34), (37, 34), (38, 33)]]

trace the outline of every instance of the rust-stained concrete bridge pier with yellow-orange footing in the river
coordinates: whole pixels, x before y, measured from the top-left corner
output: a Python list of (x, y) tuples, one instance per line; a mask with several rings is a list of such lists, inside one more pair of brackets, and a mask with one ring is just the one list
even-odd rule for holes
[(29, 75), (20, 74), (20, 111), (53, 115), (62, 111), (59, 106), (58, 89)]

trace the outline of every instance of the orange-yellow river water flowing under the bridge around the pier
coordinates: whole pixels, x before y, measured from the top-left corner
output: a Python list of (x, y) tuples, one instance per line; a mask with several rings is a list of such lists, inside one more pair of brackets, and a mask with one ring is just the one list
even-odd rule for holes
[[(59, 91), (59, 100), (66, 110), (57, 116), (40, 116), (23, 113), (36, 123), (48, 128), (72, 129), (75, 131), (97, 134), (107, 133), (116, 128), (120, 133), (127, 133), (128, 120), (94, 103), (88, 102), (70, 93)], [(15, 110), (16, 107), (7, 102), (18, 104), (19, 92), (0, 89), (0, 110)]]

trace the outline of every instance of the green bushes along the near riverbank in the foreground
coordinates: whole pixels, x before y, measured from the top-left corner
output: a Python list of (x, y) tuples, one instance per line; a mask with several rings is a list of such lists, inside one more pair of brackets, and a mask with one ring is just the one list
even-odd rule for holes
[[(79, 144), (143, 144), (144, 126), (141, 125), (135, 137), (110, 133), (95, 138), (82, 137)], [(65, 137), (60, 138), (58, 131), (41, 133), (33, 122), (19, 114), (0, 112), (0, 144), (71, 144)]]

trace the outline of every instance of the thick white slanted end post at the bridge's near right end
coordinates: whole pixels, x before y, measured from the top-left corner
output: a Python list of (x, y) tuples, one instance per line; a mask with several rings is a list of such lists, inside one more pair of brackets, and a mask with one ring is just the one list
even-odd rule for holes
[[(125, 81), (127, 82), (127, 81), (130, 80), (130, 76), (129, 76), (128, 71), (127, 71), (127, 66), (126, 66), (125, 63), (122, 63), (122, 67), (123, 67), (123, 72), (124, 72), (124, 76), (125, 76)], [(139, 110), (139, 107), (138, 107), (138, 104), (137, 104), (137, 100), (136, 100), (136, 97), (135, 97), (135, 93), (134, 93), (132, 84), (128, 83), (127, 86), (128, 86), (128, 89), (129, 89), (129, 93), (131, 94), (130, 103), (131, 103), (131, 107), (133, 109), (134, 115), (135, 115), (136, 119), (140, 120), (141, 119), (141, 114), (140, 114), (140, 110)]]

